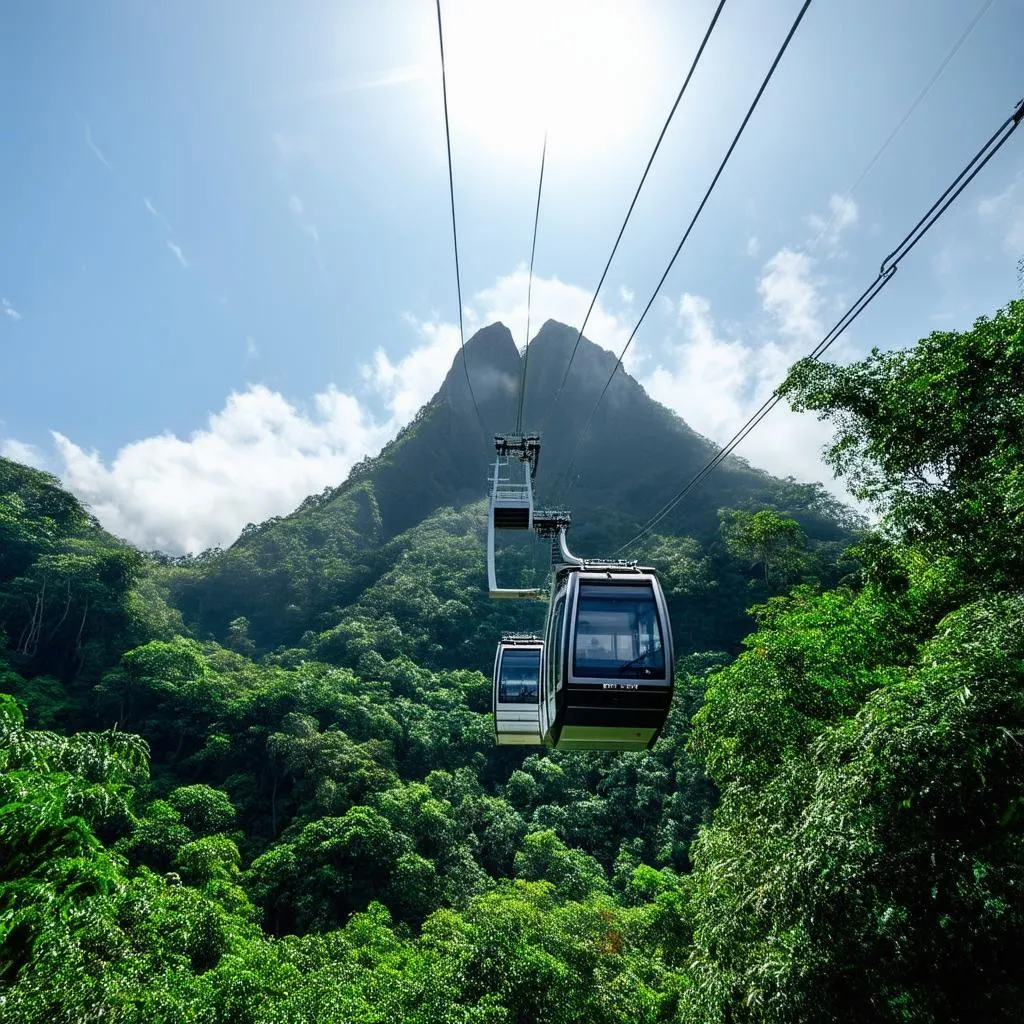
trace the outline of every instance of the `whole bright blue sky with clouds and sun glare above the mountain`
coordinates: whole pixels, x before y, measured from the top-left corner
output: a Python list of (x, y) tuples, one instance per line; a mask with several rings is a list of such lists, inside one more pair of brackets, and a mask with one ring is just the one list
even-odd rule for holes
[[(467, 327), (579, 324), (714, 4), (443, 3)], [(729, 0), (588, 335), (617, 348), (797, 0)], [(851, 196), (955, 41), (984, 15)], [(1021, 0), (815, 0), (627, 366), (723, 440), (1024, 95)], [(0, 451), (143, 547), (340, 482), (458, 345), (434, 6), (0, 7)], [(1024, 132), (836, 355), (1017, 294)], [(740, 449), (826, 478), (777, 410)], [(481, 467), (481, 479), (484, 469)], [(653, 510), (652, 510), (653, 511)]]

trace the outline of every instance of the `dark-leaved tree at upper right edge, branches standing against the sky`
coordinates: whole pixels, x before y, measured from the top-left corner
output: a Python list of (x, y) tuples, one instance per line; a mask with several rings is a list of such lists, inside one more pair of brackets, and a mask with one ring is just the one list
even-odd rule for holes
[(836, 425), (828, 463), (894, 535), (977, 586), (1024, 582), (1024, 300), (850, 366), (804, 359), (779, 394)]

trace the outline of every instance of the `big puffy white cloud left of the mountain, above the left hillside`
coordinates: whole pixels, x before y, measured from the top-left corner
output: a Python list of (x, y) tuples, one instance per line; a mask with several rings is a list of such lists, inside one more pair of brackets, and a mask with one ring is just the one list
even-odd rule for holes
[(226, 544), (247, 522), (288, 513), (341, 483), (389, 430), (333, 387), (306, 412), (253, 385), (186, 440), (146, 437), (109, 464), (62, 434), (53, 438), (66, 484), (108, 529), (143, 549), (181, 552)]

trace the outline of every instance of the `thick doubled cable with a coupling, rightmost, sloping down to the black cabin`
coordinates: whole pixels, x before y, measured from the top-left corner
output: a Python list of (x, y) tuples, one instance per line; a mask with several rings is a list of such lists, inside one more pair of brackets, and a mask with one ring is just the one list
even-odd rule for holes
[[(852, 306), (840, 317), (836, 326), (818, 342), (806, 358), (817, 361), (825, 351), (836, 342), (844, 331), (867, 308), (874, 300), (876, 296), (886, 285), (892, 281), (899, 264), (910, 254), (914, 246), (931, 230), (935, 222), (949, 209), (962, 191), (977, 177), (982, 168), (995, 156), (1004, 146), (1010, 136), (1020, 126), (1024, 120), (1024, 99), (1018, 104), (1013, 114), (1002, 122), (995, 130), (987, 142), (971, 158), (971, 161), (959, 174), (953, 179), (946, 190), (932, 204), (928, 212), (913, 225), (906, 233), (900, 244), (882, 261), (878, 275), (870, 285), (861, 292), (860, 296)], [(662, 509), (647, 521), (644, 527), (630, 541), (624, 544), (615, 555), (621, 554), (628, 548), (633, 547), (638, 541), (646, 537), (677, 505), (697, 487), (708, 475), (720, 466), (739, 443), (754, 430), (755, 427), (781, 401), (781, 397), (776, 389), (772, 395), (766, 399), (761, 408), (743, 424), (739, 430), (725, 443), (725, 445), (710, 459), (672, 498)]]

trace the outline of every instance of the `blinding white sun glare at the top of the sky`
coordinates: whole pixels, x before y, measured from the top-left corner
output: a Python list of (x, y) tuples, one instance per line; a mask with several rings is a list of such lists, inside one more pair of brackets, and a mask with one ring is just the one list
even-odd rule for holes
[(449, 0), (443, 7), (453, 130), (532, 162), (545, 131), (594, 158), (621, 143), (659, 73), (639, 4)]

